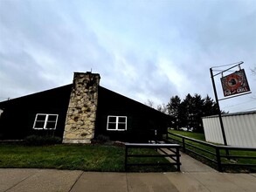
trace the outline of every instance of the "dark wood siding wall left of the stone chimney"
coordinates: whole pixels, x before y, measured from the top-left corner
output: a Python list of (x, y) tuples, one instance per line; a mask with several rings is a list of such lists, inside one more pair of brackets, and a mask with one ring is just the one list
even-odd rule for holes
[[(55, 134), (62, 137), (71, 88), (72, 85), (60, 86), (1, 102), (0, 108), (3, 109), (3, 113), (0, 118), (0, 140), (24, 139), (31, 134)], [(33, 129), (37, 113), (59, 114), (56, 130)]]

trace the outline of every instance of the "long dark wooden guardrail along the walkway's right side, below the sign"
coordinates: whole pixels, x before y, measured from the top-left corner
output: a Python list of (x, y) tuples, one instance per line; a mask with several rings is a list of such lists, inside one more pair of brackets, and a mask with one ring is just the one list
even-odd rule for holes
[[(215, 145), (205, 141), (198, 141), (190, 137), (180, 134), (168, 134), (166, 142), (174, 142), (181, 144), (183, 153), (195, 154), (206, 161), (209, 161), (218, 167), (219, 172), (223, 172), (224, 168), (240, 167), (240, 168), (256, 168), (256, 148), (255, 147), (232, 147)], [(226, 153), (228, 151), (229, 153)], [(232, 154), (234, 151), (251, 152), (250, 154)], [(230, 161), (233, 160), (233, 161)], [(239, 160), (250, 160), (253, 162), (239, 162)]]

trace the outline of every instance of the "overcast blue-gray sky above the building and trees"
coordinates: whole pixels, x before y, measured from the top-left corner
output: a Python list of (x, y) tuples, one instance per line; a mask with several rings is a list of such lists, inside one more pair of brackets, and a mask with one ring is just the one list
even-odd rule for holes
[(214, 99), (209, 69), (239, 61), (253, 93), (220, 101), (229, 112), (256, 110), (255, 0), (0, 0), (0, 101), (91, 70), (142, 103)]

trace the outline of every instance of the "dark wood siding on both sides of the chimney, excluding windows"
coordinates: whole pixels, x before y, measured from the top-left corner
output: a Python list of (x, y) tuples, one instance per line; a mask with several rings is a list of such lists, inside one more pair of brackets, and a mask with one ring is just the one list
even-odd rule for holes
[[(71, 90), (72, 85), (61, 86), (1, 102), (0, 140), (24, 139), (31, 134), (54, 134), (62, 138)], [(59, 114), (56, 130), (33, 129), (37, 113)], [(108, 115), (127, 116), (127, 130), (107, 131)], [(166, 134), (170, 120), (169, 115), (99, 86), (95, 137), (102, 134), (114, 141), (147, 142), (154, 139), (155, 130), (159, 137)]]

